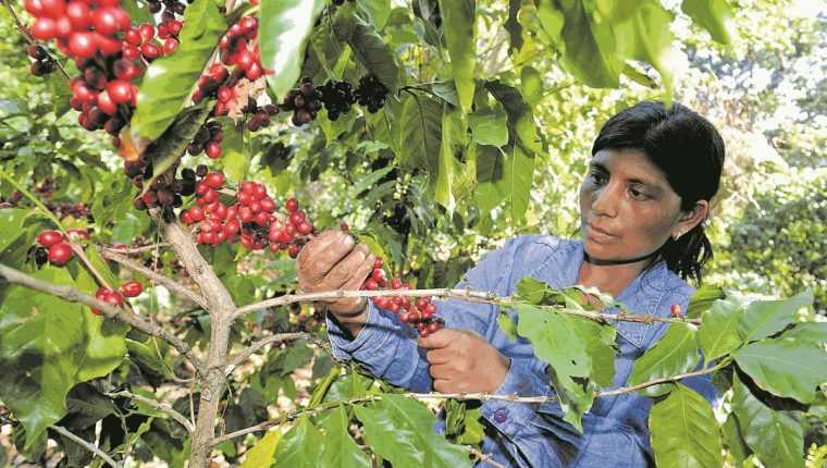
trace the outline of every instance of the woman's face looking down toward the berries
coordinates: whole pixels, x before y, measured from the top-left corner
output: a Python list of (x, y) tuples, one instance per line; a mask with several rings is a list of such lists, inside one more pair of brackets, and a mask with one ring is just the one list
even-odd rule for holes
[(598, 151), (580, 186), (585, 253), (597, 260), (628, 260), (654, 253), (680, 232), (686, 214), (680, 201), (663, 171), (643, 152)]

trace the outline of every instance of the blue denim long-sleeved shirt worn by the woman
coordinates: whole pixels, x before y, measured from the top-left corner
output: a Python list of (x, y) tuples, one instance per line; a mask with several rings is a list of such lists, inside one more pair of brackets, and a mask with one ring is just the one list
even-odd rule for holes
[[(570, 286), (576, 284), (582, 261), (580, 242), (521, 236), (490, 253), (456, 287), (470, 286), (473, 291), (505, 296), (514, 293), (523, 276), (535, 278), (551, 287)], [(666, 318), (672, 304), (686, 310), (692, 293), (693, 287), (668, 271), (662, 261), (638, 275), (616, 299), (632, 313)], [(520, 337), (511, 341), (499, 330), (497, 306), (448, 299), (439, 301), (437, 307), (446, 327), (474, 330), (510, 359), (508, 374), (496, 394), (554, 394), (544, 374), (546, 364), (534, 357), (530, 343)], [(517, 319), (514, 311), (507, 313)], [(366, 327), (353, 341), (334, 322), (329, 320), (328, 325), (336, 358), (353, 359), (373, 374), (415, 392), (433, 390), (424, 350), (417, 347), (416, 332), (394, 315), (371, 305)], [(620, 387), (626, 385), (634, 359), (652, 347), (667, 327), (634, 322), (615, 325), (620, 352), (615, 357), (613, 387)], [(715, 399), (715, 389), (706, 377), (684, 379), (681, 383), (711, 402)], [(583, 415), (581, 434), (563, 421), (558, 403), (486, 401), (480, 411), (490, 428), (496, 430), (486, 431), (482, 452), (509, 467), (654, 466), (647, 429), (651, 406), (650, 398), (637, 393), (595, 398), (591, 410)], [(442, 431), (444, 423), (441, 421), (435, 429)]]

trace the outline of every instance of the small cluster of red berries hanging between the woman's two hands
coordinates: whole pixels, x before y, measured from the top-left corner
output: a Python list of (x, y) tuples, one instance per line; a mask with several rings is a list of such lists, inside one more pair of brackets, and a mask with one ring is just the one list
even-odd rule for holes
[[(382, 258), (377, 257), (373, 271), (362, 283), (361, 290), (379, 291), (387, 284), (385, 271), (382, 269), (383, 263)], [(407, 291), (410, 290), (410, 284), (394, 278), (391, 280), (391, 290)], [(420, 297), (416, 301), (407, 296), (378, 296), (372, 297), (371, 300), (378, 308), (397, 313), (403, 323), (416, 328), (422, 337), (427, 337), (445, 325), (445, 322), (436, 317), (436, 305), (431, 303), (429, 296)]]

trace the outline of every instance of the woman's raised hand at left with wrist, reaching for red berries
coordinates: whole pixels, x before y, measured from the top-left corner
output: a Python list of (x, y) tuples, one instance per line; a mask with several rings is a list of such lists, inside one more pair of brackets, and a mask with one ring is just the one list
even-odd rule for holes
[[(324, 231), (307, 243), (296, 261), (298, 285), (305, 293), (359, 290), (373, 271), (375, 256), (365, 244), (356, 245), (342, 231)], [(367, 320), (367, 298), (350, 297), (321, 300), (340, 323), (354, 336)]]

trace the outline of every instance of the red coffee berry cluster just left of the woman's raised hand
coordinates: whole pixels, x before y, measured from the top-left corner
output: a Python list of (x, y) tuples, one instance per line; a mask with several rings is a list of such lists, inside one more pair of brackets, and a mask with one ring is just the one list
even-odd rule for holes
[(252, 181), (242, 183), (235, 193), (235, 202), (229, 206), (219, 200), (223, 186), (222, 173), (206, 174), (195, 188), (198, 206), (181, 212), (184, 224), (197, 224), (198, 244), (240, 239), (245, 248), (252, 250), (268, 247), (270, 251), (287, 250), (291, 257), (298, 256), (313, 226), (298, 209), (295, 198), (286, 201), (289, 215), (284, 217), (276, 213), (276, 204), (263, 185)]

